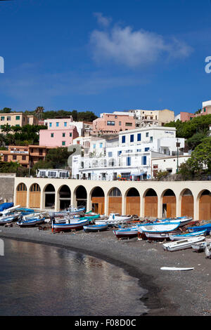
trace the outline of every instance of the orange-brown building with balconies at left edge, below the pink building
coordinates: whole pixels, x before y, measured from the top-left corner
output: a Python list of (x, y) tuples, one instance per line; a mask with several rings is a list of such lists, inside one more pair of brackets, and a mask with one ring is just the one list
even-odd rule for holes
[(29, 168), (37, 161), (44, 160), (47, 151), (43, 145), (9, 145), (8, 150), (0, 150), (0, 157), (1, 161), (16, 161)]

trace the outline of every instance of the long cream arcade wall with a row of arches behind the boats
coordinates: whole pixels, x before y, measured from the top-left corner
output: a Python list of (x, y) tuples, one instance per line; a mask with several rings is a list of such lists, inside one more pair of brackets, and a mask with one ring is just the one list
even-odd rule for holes
[[(21, 197), (18, 194), (17, 187), (20, 183), (24, 183), (27, 187), (27, 190), (23, 193)], [(159, 181), (144, 181), (144, 182), (134, 182), (134, 181), (99, 181), (99, 180), (73, 180), (73, 179), (48, 179), (48, 178), (15, 178), (14, 184), (14, 197), (13, 201), (15, 204), (22, 204), (23, 206), (30, 207), (30, 187), (37, 183), (40, 187), (40, 209), (45, 209), (45, 187), (49, 183), (55, 187), (55, 211), (59, 211), (59, 190), (63, 185), (68, 185), (71, 191), (71, 204), (77, 206), (77, 201), (75, 198), (75, 190), (79, 185), (84, 186), (87, 190), (87, 211), (91, 210), (91, 191), (94, 187), (101, 187), (104, 192), (104, 211), (108, 215), (109, 210), (109, 191), (113, 187), (118, 187), (122, 194), (122, 197), (118, 197), (119, 204), (121, 205), (121, 210), (119, 207), (119, 213), (127, 214), (127, 192), (136, 188), (140, 196), (140, 216), (144, 217), (145, 215), (145, 198), (146, 192), (150, 189), (155, 190), (158, 196), (158, 218), (162, 218), (162, 204), (163, 204), (163, 195), (166, 190), (172, 189), (175, 194), (174, 202), (176, 199), (176, 216), (181, 216), (181, 204), (183, 199), (183, 192), (186, 189), (191, 190), (193, 194), (193, 218), (194, 220), (199, 220), (199, 218), (210, 218), (210, 211), (206, 211), (204, 208), (204, 215), (202, 214), (202, 206), (205, 206), (205, 197), (201, 196), (202, 192), (205, 190), (211, 191), (211, 181), (177, 181), (177, 182), (159, 182)], [(202, 197), (202, 198), (201, 198)], [(206, 197), (208, 200), (207, 206), (210, 207), (210, 197)], [(17, 204), (18, 202), (18, 204)], [(120, 206), (119, 205), (119, 206)], [(138, 214), (139, 215), (139, 214)]]

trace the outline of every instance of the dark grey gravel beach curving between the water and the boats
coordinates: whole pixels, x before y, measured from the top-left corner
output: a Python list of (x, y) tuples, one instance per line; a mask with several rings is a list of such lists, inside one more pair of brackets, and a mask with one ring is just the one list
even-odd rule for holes
[[(159, 242), (118, 240), (106, 232), (53, 233), (38, 227), (0, 227), (0, 237), (63, 246), (113, 263), (139, 278), (148, 293), (141, 301), (149, 316), (211, 315), (211, 260), (193, 249), (167, 252)], [(165, 271), (161, 267), (193, 267), (190, 271)]]

